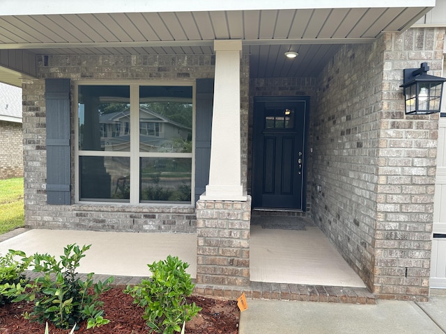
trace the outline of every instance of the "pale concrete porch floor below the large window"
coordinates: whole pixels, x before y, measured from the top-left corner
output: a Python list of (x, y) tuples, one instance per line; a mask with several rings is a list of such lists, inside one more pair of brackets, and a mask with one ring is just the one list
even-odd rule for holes
[(68, 244), (89, 245), (78, 268), (79, 273), (109, 276), (150, 276), (147, 264), (178, 256), (189, 264), (187, 273), (197, 277), (197, 235), (174, 233), (96, 232), (79, 230), (25, 229), (0, 242), (0, 254), (8, 249), (26, 255), (48, 253), (56, 260)]

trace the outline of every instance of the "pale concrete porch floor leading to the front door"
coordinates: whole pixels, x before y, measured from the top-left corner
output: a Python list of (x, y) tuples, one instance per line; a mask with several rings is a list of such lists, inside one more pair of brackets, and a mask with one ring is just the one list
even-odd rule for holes
[(249, 248), (252, 281), (365, 287), (316, 226), (280, 230), (251, 225)]

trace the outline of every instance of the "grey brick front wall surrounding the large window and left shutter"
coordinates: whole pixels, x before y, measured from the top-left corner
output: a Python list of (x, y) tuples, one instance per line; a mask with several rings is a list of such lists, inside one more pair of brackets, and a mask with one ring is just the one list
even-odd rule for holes
[[(124, 81), (193, 81), (214, 77), (213, 56), (39, 56), (36, 80), (23, 84), (24, 184), (26, 225), (40, 228), (79, 228), (141, 232), (195, 232), (195, 209), (190, 206), (153, 205), (47, 205), (45, 147), (45, 78)], [(247, 169), (247, 114), (249, 58), (241, 60), (241, 132), (243, 184)], [(72, 103), (75, 102), (72, 99)], [(74, 110), (72, 105), (72, 124)], [(72, 142), (75, 142), (72, 127)], [(72, 148), (72, 189), (75, 156)], [(72, 198), (75, 194), (72, 193)], [(73, 202), (74, 203), (74, 202)]]

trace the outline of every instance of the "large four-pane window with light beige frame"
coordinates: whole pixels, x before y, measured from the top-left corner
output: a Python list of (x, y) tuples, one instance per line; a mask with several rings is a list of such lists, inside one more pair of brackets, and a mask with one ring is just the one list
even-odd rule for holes
[(79, 200), (190, 204), (192, 96), (192, 86), (79, 84)]

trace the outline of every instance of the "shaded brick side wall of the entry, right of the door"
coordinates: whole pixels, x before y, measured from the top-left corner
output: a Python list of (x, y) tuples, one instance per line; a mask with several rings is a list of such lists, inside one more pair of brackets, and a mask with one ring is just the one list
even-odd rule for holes
[(316, 112), (310, 116), (314, 221), (369, 286), (374, 281), (382, 53), (379, 42), (343, 47), (318, 79)]

